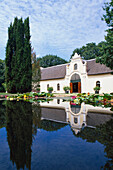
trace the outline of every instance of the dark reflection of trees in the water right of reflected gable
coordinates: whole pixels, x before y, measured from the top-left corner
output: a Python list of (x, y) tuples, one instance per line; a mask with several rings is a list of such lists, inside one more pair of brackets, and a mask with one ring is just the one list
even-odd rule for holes
[[(74, 134), (75, 135), (75, 134)], [(105, 146), (104, 152), (109, 159), (102, 169), (113, 169), (113, 119), (97, 126), (95, 129), (85, 127), (76, 137), (81, 137), (87, 142), (100, 142)]]

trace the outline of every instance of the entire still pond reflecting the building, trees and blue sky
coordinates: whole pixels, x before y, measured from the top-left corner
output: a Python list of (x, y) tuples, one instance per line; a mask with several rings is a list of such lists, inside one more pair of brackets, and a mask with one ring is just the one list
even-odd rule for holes
[(0, 169), (113, 169), (112, 115), (62, 99), (0, 101)]

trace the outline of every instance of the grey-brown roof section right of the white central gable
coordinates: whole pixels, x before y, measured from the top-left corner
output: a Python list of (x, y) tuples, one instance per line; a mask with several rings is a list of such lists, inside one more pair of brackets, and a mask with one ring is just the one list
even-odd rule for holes
[(105, 74), (113, 72), (113, 70), (111, 70), (109, 67), (106, 67), (104, 64), (96, 63), (96, 59), (87, 60), (86, 62), (88, 75)]

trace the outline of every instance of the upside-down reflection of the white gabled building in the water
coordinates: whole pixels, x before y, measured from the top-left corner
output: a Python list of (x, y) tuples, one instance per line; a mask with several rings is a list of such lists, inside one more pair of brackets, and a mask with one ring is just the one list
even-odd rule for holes
[(95, 128), (97, 125), (104, 124), (112, 118), (113, 114), (110, 108), (94, 107), (85, 103), (76, 105), (72, 102), (63, 102), (62, 99), (40, 103), (40, 106), (41, 119), (69, 123), (75, 134), (86, 126)]

